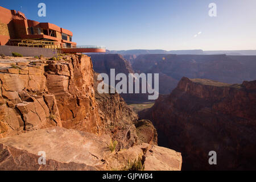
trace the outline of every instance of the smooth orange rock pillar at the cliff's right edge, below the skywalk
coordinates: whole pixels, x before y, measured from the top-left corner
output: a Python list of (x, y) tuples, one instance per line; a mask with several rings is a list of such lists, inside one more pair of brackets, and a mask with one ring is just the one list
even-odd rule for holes
[(55, 95), (62, 126), (100, 133), (94, 98), (92, 61), (88, 56), (70, 56), (45, 67), (47, 88)]

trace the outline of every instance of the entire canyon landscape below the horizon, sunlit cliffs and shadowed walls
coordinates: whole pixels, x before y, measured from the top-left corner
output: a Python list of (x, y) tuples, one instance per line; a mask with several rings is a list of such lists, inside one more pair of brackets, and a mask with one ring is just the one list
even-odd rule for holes
[[(139, 157), (146, 170), (255, 169), (255, 57), (2, 57), (0, 169), (122, 170)], [(159, 98), (137, 114), (126, 103), (148, 94), (99, 93), (110, 69), (159, 73)]]

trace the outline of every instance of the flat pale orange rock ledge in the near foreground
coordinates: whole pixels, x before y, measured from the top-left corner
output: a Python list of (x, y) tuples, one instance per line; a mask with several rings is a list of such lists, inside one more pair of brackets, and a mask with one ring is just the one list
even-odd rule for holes
[[(181, 155), (168, 148), (138, 146), (111, 152), (110, 137), (61, 127), (30, 131), (0, 139), (0, 170), (112, 170), (145, 156), (146, 170), (180, 170)], [(151, 148), (150, 150), (148, 150)], [(42, 151), (46, 164), (43, 162)], [(39, 159), (40, 158), (40, 159)]]

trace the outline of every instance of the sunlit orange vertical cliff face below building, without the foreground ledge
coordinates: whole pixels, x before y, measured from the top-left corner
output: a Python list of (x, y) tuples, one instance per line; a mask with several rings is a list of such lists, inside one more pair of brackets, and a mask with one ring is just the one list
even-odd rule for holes
[(101, 133), (90, 57), (64, 59), (1, 63), (0, 137), (51, 126)]

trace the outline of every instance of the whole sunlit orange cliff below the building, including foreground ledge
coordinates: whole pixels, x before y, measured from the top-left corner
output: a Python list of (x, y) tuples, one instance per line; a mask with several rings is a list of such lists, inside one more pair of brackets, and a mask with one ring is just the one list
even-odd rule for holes
[(118, 93), (97, 92), (89, 56), (1, 58), (1, 170), (122, 170), (140, 157), (145, 170), (181, 169), (151, 121)]

